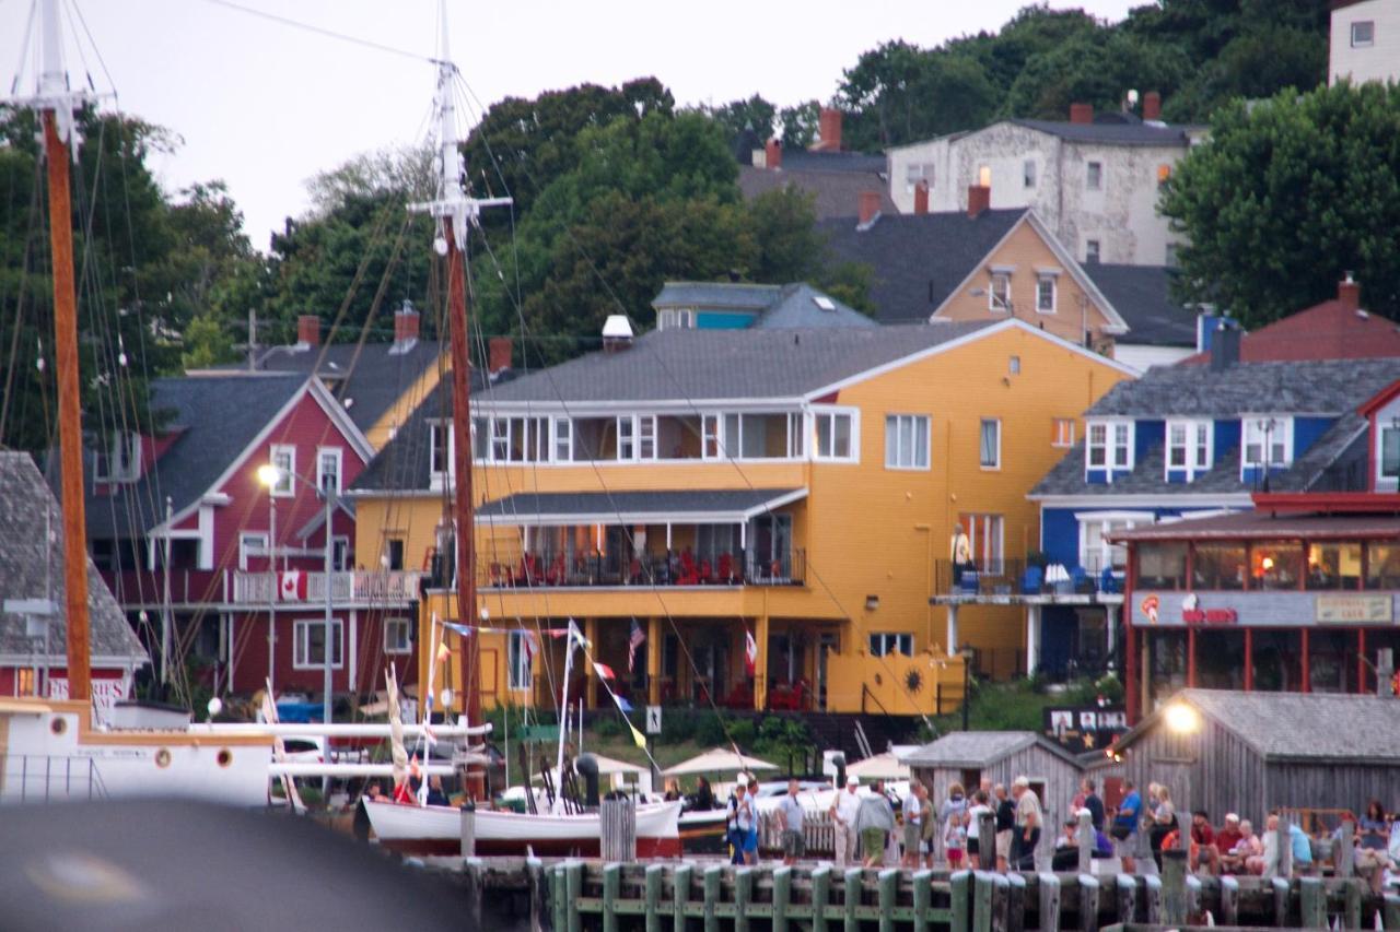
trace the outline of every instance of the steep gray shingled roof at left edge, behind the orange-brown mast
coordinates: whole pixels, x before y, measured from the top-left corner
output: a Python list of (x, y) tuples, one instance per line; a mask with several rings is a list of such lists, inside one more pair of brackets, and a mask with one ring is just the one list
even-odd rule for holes
[[(45, 526), (52, 528), (52, 546), (45, 544)], [(63, 613), (63, 515), (28, 453), (0, 452), (0, 528), (6, 529), (0, 535), (0, 596), (42, 599), (49, 586), (49, 598), (59, 606), (59, 614), (50, 620), (49, 648), (53, 652), (52, 662), (63, 663), (67, 637)], [(94, 662), (137, 666), (150, 662), (91, 558), (88, 614)], [(42, 654), (42, 645), (25, 637), (24, 628), (24, 617), (0, 612), (0, 655)]]

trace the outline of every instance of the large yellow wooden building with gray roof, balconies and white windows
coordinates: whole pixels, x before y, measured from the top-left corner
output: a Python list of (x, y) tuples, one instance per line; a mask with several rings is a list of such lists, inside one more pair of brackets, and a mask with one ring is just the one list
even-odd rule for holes
[[(1023, 649), (1016, 609), (965, 607), (951, 633), (930, 605), (955, 526), (974, 563), (1023, 557), (1039, 540), (1026, 491), (1079, 411), (1131, 375), (1009, 319), (662, 330), (483, 383), (469, 620), (483, 702), (556, 708), (566, 641), (550, 633), (575, 620), (637, 705), (952, 709), (959, 648), (998, 676)], [(437, 570), (420, 682), (440, 623), (458, 621), (444, 392), (351, 493), (360, 564)], [(459, 693), (445, 637), (435, 683)], [(570, 694), (608, 701), (595, 676), (575, 658)]]

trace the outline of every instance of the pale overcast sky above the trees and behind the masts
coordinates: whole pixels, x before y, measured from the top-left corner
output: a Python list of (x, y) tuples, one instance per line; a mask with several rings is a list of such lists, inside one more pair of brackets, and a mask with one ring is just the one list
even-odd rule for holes
[[(232, 0), (339, 34), (431, 55), (437, 0)], [(763, 94), (777, 104), (836, 90), (841, 70), (881, 42), (931, 46), (995, 29), (1029, 0), (449, 0), (451, 52), (490, 105), (507, 95), (594, 81), (661, 78), (678, 102)], [(1144, 0), (1054, 1), (1121, 18)], [(87, 66), (120, 108), (185, 141), (155, 165), (178, 189), (221, 178), (266, 249), (305, 206), (304, 182), (357, 153), (416, 143), (433, 95), (426, 62), (301, 31), (213, 0), (60, 0), (78, 10)], [(31, 0), (0, 0), (0, 77), (22, 62)], [(81, 27), (78, 27), (81, 28)], [(70, 42), (69, 70), (83, 62)], [(20, 92), (32, 91), (25, 64)], [(475, 122), (475, 120), (472, 120)]]

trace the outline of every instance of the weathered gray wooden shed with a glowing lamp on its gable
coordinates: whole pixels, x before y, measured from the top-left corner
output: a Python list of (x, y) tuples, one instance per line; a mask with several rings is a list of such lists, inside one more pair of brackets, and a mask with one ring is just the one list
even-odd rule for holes
[(1182, 690), (1114, 744), (1123, 775), (1165, 784), (1177, 812), (1400, 803), (1400, 700), (1337, 693)]

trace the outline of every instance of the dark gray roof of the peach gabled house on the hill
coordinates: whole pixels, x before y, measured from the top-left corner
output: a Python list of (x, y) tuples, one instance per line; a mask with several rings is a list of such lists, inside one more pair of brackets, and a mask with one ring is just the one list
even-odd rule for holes
[(868, 230), (857, 230), (851, 216), (819, 227), (833, 256), (874, 270), (871, 299), (879, 322), (907, 323), (927, 320), (1026, 210), (984, 210), (976, 218), (966, 211), (882, 216)]

